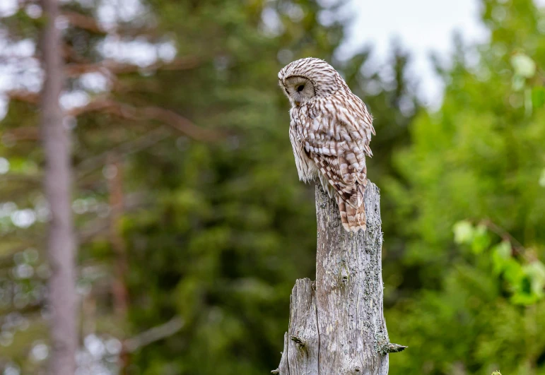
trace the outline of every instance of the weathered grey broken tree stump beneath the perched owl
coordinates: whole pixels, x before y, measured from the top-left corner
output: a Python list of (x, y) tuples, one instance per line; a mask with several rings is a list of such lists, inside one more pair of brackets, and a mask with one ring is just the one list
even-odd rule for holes
[(389, 342), (382, 312), (380, 193), (368, 181), (366, 232), (348, 233), (339, 208), (316, 186), (316, 281), (297, 280), (291, 293), (281, 375), (388, 374)]

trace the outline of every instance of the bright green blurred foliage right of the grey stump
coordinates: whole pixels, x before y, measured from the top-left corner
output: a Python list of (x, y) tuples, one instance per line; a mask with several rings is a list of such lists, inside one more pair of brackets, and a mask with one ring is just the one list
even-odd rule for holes
[(443, 105), (418, 114), (394, 154), (402, 179), (383, 190), (406, 239), (401, 273), (385, 276), (390, 337), (410, 348), (390, 356), (394, 374), (545, 374), (541, 13), (484, 1), (483, 20), (491, 42), (476, 64), (459, 44), (438, 67)]

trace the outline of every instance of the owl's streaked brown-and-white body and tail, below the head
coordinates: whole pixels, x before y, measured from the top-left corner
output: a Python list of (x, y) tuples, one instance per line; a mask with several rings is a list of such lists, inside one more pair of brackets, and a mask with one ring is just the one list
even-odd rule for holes
[(365, 155), (375, 134), (373, 119), (350, 91), (317, 98), (291, 109), (290, 138), (299, 178), (318, 178), (339, 204), (346, 230), (365, 228)]

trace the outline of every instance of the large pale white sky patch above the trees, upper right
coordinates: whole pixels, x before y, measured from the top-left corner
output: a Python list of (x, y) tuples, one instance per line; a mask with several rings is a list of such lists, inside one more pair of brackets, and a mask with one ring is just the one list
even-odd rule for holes
[[(541, 1), (541, 0), (540, 0)], [(382, 64), (392, 40), (413, 54), (410, 66), (418, 81), (418, 93), (430, 107), (440, 105), (443, 85), (433, 72), (430, 52), (448, 60), (455, 31), (464, 42), (484, 42), (488, 32), (479, 20), (478, 0), (350, 0), (345, 11), (353, 15), (348, 39), (339, 54), (351, 54), (373, 45), (372, 62)], [(541, 1), (545, 2), (545, 1)]]

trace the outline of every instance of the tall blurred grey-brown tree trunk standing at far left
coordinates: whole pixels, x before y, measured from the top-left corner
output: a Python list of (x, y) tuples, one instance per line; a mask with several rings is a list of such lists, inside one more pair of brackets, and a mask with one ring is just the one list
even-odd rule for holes
[(59, 97), (64, 82), (61, 35), (55, 25), (57, 0), (43, 0), (46, 24), (42, 33), (45, 82), (42, 90), (41, 132), (45, 150), (45, 196), (51, 210), (47, 254), (52, 355), (49, 374), (73, 375), (76, 370), (76, 244), (71, 214), (71, 157), (69, 129), (63, 124)]

